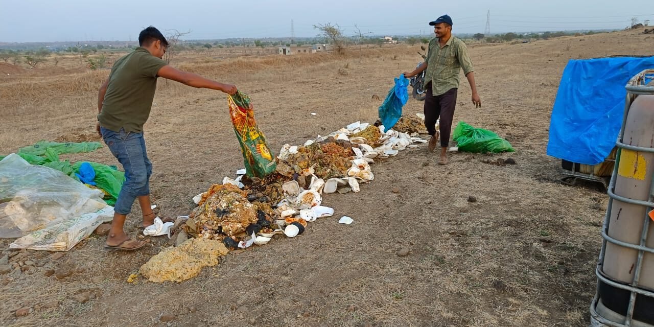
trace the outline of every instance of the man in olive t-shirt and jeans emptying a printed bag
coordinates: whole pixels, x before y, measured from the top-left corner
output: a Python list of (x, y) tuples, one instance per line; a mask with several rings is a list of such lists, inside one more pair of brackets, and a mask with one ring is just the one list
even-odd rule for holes
[(157, 78), (163, 77), (196, 88), (210, 88), (235, 94), (236, 86), (222, 84), (199, 75), (179, 71), (162, 60), (168, 42), (162, 33), (150, 26), (139, 34), (139, 48), (114, 63), (109, 78), (97, 97), (97, 132), (125, 170), (114, 219), (106, 247), (135, 250), (144, 242), (129, 238), (123, 230), (126, 216), (135, 199), (143, 212), (143, 226), (154, 223), (150, 209), (149, 180), (152, 163), (148, 160), (143, 139), (143, 124), (148, 120)]

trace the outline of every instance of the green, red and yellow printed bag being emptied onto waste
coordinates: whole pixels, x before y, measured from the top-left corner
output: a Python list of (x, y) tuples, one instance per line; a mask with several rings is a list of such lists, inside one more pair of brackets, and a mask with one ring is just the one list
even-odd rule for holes
[(263, 179), (277, 168), (277, 162), (273, 158), (266, 137), (256, 125), (254, 120), (254, 107), (250, 103), (250, 97), (237, 92), (228, 95), (227, 102), (230, 106), (230, 116), (236, 137), (241, 145), (245, 170), (249, 177)]

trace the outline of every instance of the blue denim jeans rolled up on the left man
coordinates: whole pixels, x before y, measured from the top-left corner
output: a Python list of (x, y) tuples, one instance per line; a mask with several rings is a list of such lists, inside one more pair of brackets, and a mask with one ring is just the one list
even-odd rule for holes
[(146, 154), (143, 133), (125, 131), (122, 128), (120, 131), (100, 128), (100, 133), (111, 154), (118, 159), (125, 171), (126, 180), (116, 199), (114, 211), (120, 215), (128, 215), (137, 197), (150, 195), (152, 163)]

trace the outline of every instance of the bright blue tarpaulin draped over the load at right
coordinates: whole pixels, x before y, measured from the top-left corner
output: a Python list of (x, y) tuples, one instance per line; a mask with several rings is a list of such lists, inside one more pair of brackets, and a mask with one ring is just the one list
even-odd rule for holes
[(625, 86), (654, 57), (570, 60), (549, 122), (547, 155), (596, 165), (615, 146), (625, 111)]

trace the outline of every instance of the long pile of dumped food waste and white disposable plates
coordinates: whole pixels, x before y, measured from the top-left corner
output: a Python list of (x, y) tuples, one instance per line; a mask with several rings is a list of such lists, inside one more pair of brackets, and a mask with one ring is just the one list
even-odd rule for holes
[[(427, 142), (416, 135), (415, 120), (422, 124), (419, 117), (400, 119), (403, 131), (385, 133), (384, 126), (354, 122), (303, 145), (286, 144), (275, 158), (275, 171), (263, 179), (248, 177), (245, 169), (237, 171), (235, 179), (225, 177), (222, 184), (194, 197), (198, 206), (188, 217), (179, 217), (185, 221), (177, 222), (171, 233), (220, 243), (228, 250), (301, 235), (308, 223), (334, 215), (334, 209), (322, 205), (324, 194), (360, 192), (360, 184), (375, 179), (371, 164)], [(186, 243), (181, 246), (188, 247)], [(165, 256), (153, 260), (167, 262), (162, 257), (169, 256), (184, 260), (183, 254), (165, 251)], [(203, 265), (207, 266), (194, 265), (182, 277), (170, 269), (153, 269), (150, 262), (141, 271), (150, 281), (179, 281)]]

